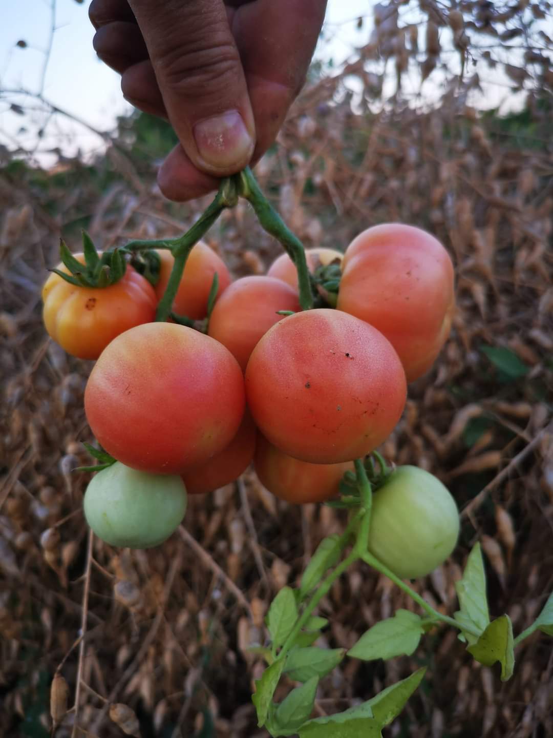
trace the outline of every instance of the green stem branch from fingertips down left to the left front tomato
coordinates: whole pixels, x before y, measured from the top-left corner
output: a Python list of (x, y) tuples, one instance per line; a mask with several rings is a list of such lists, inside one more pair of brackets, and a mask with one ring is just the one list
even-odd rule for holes
[[(215, 223), (219, 215), (226, 207), (234, 207), (237, 202), (236, 184), (231, 177), (222, 179), (219, 191), (215, 199), (207, 207), (205, 212), (195, 222), (195, 224), (184, 235), (171, 241), (171, 252), (175, 258), (173, 269), (167, 282), (167, 288), (159, 301), (156, 312), (156, 321), (164, 321), (170, 316), (173, 300), (178, 292), (178, 286), (181, 283), (184, 266), (187, 263), (189, 253), (198, 243), (204, 233), (209, 230)], [(151, 242), (150, 242), (151, 243)]]

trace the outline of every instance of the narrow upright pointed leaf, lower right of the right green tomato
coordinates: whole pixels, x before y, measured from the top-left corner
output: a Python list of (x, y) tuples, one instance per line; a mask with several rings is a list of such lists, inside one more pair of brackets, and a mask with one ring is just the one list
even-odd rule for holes
[[(480, 544), (476, 543), (467, 559), (467, 565), (462, 579), (455, 583), (461, 610), (454, 613), (454, 618), (461, 627), (472, 627), (479, 633), (484, 632), (490, 624), (490, 615), (487, 608), (486, 573)], [(463, 630), (463, 635), (470, 644), (476, 643), (476, 637)]]

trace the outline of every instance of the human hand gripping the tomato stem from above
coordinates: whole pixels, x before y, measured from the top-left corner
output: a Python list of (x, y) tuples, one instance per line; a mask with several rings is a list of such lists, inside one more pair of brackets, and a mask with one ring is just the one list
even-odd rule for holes
[(304, 81), (327, 0), (92, 0), (94, 49), (180, 144), (158, 182), (184, 201), (255, 162)]

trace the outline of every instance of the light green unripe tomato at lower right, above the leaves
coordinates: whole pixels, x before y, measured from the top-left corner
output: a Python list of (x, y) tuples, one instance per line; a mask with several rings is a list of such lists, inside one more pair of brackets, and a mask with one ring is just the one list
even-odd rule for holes
[(401, 579), (426, 576), (453, 551), (459, 510), (424, 469), (398, 466), (372, 500), (369, 551)]

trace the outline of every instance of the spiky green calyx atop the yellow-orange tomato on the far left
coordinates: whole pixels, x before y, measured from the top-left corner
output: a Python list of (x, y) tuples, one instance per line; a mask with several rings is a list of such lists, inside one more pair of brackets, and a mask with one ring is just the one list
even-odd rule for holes
[(67, 272), (50, 269), (58, 277), (77, 287), (109, 287), (125, 275), (127, 262), (120, 249), (108, 249), (100, 255), (86, 231), (83, 230), (84, 263), (75, 258), (63, 238), (60, 238), (60, 259)]

